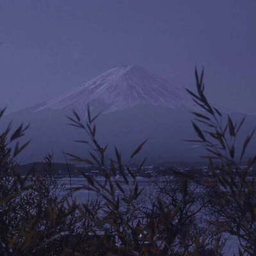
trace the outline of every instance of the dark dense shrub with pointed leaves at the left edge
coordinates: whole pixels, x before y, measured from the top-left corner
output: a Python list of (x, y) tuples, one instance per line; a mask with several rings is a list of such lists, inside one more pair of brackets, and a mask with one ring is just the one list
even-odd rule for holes
[(67, 207), (65, 198), (58, 198), (61, 188), (52, 175), (51, 156), (45, 158), (43, 177), (36, 177), (33, 168), (20, 176), (15, 157), (28, 145), (18, 142), (27, 128), (20, 125), (10, 135), (8, 125), (0, 135), (0, 255), (56, 255), (62, 249), (57, 241), (77, 221), (70, 214), (75, 205)]

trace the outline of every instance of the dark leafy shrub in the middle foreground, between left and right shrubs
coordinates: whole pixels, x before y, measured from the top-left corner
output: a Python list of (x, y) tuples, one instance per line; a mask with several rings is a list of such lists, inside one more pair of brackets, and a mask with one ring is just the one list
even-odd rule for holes
[[(83, 129), (88, 135), (89, 141), (78, 141), (89, 144), (91, 149), (87, 158), (67, 153), (70, 161), (90, 164), (94, 170), (104, 175), (104, 181), (100, 182), (84, 175), (89, 186), (77, 189), (90, 189), (102, 200), (101, 215), (94, 216), (91, 220), (94, 227), (104, 232), (105, 236), (113, 236), (116, 239), (116, 248), (109, 251), (113, 255), (192, 255), (201, 253), (211, 244), (220, 241), (220, 235), (214, 236), (207, 232), (204, 225), (196, 216), (207, 204), (204, 200), (198, 200), (194, 195), (195, 182), (189, 182), (186, 177), (176, 177), (174, 182), (169, 182), (168, 191), (158, 187), (159, 193), (151, 202), (138, 204), (138, 198), (143, 189), (138, 184), (140, 173), (145, 160), (136, 170), (122, 163), (122, 156), (115, 148), (115, 159), (106, 160), (106, 146), (100, 145), (96, 136), (97, 116), (91, 116), (88, 107), (88, 118), (83, 124), (81, 118), (74, 111), (74, 117), (68, 117), (70, 125)], [(131, 154), (131, 159), (136, 156), (146, 141), (143, 141)], [(122, 182), (116, 179), (116, 175), (122, 177)], [(175, 173), (173, 173), (174, 175)], [(129, 190), (124, 189), (129, 186)], [(86, 211), (79, 210), (86, 220)], [(220, 255), (223, 244), (219, 243), (215, 248), (216, 255)], [(213, 250), (213, 249), (212, 249)], [(213, 252), (213, 251), (212, 251)], [(97, 252), (93, 252), (97, 255)]]

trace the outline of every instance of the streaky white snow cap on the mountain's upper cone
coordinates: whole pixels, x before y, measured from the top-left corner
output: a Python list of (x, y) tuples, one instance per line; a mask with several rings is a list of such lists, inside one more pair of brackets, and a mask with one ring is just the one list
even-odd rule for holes
[(106, 113), (138, 104), (185, 108), (191, 106), (191, 100), (185, 90), (143, 67), (132, 65), (112, 68), (81, 87), (47, 100), (35, 111), (51, 108), (80, 112), (87, 108), (87, 104)]

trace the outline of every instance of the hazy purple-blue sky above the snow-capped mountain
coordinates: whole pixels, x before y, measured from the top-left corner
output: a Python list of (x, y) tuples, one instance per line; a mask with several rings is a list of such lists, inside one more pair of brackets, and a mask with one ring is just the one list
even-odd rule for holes
[(256, 113), (255, 0), (0, 0), (0, 107), (16, 111), (118, 65)]

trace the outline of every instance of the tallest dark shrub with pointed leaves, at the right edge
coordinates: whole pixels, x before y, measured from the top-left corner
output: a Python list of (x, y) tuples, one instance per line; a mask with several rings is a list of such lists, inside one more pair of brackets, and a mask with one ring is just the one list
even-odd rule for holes
[(198, 140), (209, 153), (203, 156), (209, 161), (209, 179), (201, 184), (209, 198), (207, 214), (211, 215), (209, 224), (218, 233), (237, 237), (239, 255), (256, 255), (256, 190), (253, 166), (256, 155), (249, 157), (244, 165), (246, 148), (252, 140), (255, 129), (247, 136), (238, 152), (237, 138), (243, 118), (234, 122), (229, 115), (212, 106), (204, 94), (204, 70), (198, 75), (195, 70), (197, 93), (188, 92), (200, 111), (194, 112), (192, 122)]

